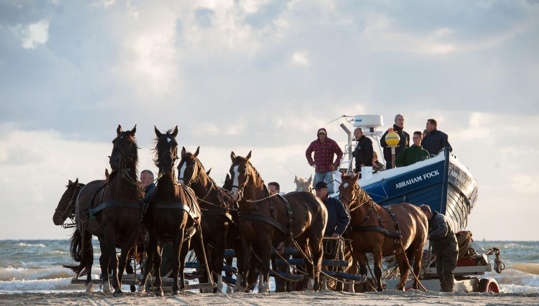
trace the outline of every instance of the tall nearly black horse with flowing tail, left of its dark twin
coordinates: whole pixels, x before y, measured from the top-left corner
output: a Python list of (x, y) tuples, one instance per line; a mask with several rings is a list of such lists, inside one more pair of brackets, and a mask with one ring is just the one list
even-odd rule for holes
[[(92, 235), (99, 238), (100, 266), (103, 293), (110, 293), (108, 271), (112, 270), (114, 295), (122, 293), (121, 281), (128, 260), (128, 252), (135, 245), (140, 232), (142, 203), (133, 178), (136, 178), (138, 147), (136, 125), (132, 130), (116, 129), (109, 157), (112, 173), (107, 180), (94, 180), (79, 191), (75, 201), (77, 229), (71, 237), (71, 256), (79, 265), (65, 265), (77, 277), (87, 275), (86, 290), (92, 290), (93, 248)], [(120, 258), (116, 246), (120, 245)]]

